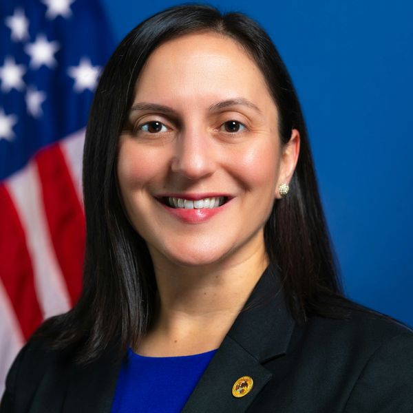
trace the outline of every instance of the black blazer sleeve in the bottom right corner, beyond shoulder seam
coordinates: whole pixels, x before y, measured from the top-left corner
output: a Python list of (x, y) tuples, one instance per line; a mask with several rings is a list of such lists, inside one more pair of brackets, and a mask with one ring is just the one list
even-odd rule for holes
[(386, 341), (372, 354), (354, 385), (346, 413), (413, 412), (413, 334)]

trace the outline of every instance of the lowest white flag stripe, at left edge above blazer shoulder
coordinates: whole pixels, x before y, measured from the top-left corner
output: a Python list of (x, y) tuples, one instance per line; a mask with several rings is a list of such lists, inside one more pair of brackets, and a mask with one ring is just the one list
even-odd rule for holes
[(0, 399), (4, 392), (6, 374), (17, 356), (24, 338), (10, 299), (0, 279)]

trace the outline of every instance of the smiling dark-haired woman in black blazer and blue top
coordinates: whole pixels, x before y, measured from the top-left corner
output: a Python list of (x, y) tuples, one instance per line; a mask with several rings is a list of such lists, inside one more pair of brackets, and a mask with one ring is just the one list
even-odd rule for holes
[(412, 412), (413, 333), (341, 295), (306, 127), (271, 40), (156, 14), (100, 79), (78, 304), (5, 412)]

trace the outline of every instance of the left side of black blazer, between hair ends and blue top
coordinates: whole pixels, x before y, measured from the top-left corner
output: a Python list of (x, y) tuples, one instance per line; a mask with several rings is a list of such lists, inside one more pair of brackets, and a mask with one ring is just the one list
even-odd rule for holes
[(54, 332), (45, 331), (37, 330), (14, 360), (0, 413), (92, 411), (92, 407), (105, 411), (118, 377), (120, 352), (108, 347), (84, 363), (76, 346), (56, 350)]

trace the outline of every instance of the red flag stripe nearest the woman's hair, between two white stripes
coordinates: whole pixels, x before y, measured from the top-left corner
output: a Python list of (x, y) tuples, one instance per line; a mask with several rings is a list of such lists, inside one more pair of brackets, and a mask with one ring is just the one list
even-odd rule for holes
[(82, 288), (85, 215), (59, 145), (36, 155), (44, 208), (72, 304)]

